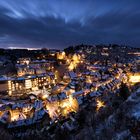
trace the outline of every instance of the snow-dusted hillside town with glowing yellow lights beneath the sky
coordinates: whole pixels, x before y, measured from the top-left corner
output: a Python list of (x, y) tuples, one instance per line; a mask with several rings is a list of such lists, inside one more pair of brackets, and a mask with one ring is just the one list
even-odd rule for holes
[(139, 48), (0, 49), (1, 129), (9, 139), (139, 139), (139, 87)]

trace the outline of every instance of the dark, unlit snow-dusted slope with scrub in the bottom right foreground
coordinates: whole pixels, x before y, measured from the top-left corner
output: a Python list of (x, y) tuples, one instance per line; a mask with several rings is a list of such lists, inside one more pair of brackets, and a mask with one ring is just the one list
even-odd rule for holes
[[(91, 115), (92, 116), (92, 115)], [(88, 118), (90, 119), (89, 116)], [(97, 119), (97, 118), (96, 118)], [(101, 123), (88, 124), (75, 136), (76, 140), (139, 140), (140, 88)]]

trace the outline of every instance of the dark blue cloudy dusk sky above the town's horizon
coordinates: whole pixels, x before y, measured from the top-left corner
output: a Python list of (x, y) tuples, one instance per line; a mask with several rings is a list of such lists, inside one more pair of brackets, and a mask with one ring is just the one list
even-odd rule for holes
[(0, 0), (0, 48), (140, 47), (140, 0)]

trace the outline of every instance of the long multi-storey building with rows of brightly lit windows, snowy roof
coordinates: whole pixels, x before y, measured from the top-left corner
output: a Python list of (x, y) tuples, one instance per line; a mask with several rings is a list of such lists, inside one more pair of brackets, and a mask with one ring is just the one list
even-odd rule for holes
[(24, 93), (35, 91), (43, 86), (49, 87), (55, 84), (55, 75), (53, 72), (47, 74), (24, 76), (24, 77), (0, 77), (0, 92), (6, 92), (9, 95), (14, 93)]

